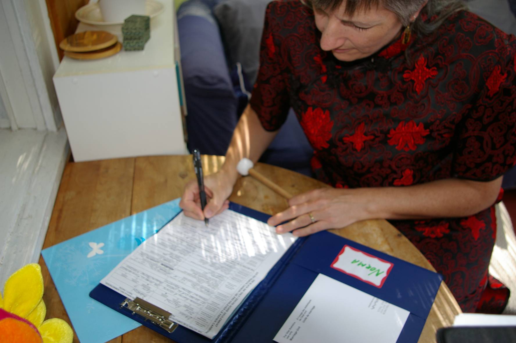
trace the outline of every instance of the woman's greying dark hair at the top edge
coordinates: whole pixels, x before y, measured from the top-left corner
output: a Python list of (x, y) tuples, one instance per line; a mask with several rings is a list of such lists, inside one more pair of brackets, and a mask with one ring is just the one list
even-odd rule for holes
[[(304, 5), (312, 8), (335, 10), (344, 0), (301, 0)], [(383, 6), (394, 12), (403, 26), (410, 24), (410, 17), (425, 4), (426, 0), (346, 0), (346, 14), (350, 17), (358, 10)], [(419, 15), (411, 28), (416, 35), (428, 35), (436, 30), (449, 15), (466, 9), (462, 0), (428, 0), (421, 14), (426, 18), (434, 17), (431, 22), (425, 22)]]

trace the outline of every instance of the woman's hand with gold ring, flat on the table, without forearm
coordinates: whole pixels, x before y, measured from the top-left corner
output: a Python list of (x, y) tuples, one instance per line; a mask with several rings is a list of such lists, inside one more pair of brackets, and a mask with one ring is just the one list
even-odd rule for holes
[(320, 188), (296, 195), (288, 201), (289, 208), (270, 217), (267, 223), (276, 226), (293, 219), (276, 227), (276, 232), (292, 232), (299, 237), (344, 227), (368, 219), (365, 193), (361, 189)]

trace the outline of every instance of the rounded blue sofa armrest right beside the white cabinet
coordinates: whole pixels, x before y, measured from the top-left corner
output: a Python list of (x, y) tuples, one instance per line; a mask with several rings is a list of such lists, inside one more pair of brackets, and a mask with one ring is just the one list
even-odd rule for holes
[(178, 10), (178, 33), (188, 149), (224, 155), (236, 126), (238, 101), (209, 4), (183, 3)]

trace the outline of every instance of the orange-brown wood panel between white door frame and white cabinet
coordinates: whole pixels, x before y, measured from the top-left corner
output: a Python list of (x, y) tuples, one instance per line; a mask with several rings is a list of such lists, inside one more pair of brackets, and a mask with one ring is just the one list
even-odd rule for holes
[(63, 51), (59, 43), (66, 37), (73, 35), (77, 29), (78, 21), (75, 19), (75, 12), (87, 5), (89, 0), (45, 0), (49, 11), (50, 25), (54, 32), (59, 60), (63, 58)]

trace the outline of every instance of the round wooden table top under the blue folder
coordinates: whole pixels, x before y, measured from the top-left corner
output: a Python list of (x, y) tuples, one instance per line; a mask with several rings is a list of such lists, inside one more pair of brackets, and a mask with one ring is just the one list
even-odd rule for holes
[[(221, 156), (202, 156), (204, 173), (219, 170)], [(257, 171), (295, 195), (328, 187), (307, 176), (257, 164)], [(191, 155), (153, 156), (70, 162), (65, 167), (43, 249), (100, 226), (139, 213), (181, 197), (185, 184), (195, 179)], [(240, 178), (230, 200), (269, 215), (285, 209), (287, 201), (252, 177)], [(428, 260), (394, 226), (385, 220), (367, 220), (338, 230), (337, 235), (364, 244), (415, 265), (434, 270)], [(43, 258), (42, 267), (47, 318), (70, 320), (52, 282)], [(441, 283), (420, 343), (435, 342), (435, 332), (453, 324), (460, 307), (444, 283)], [(111, 340), (111, 343), (170, 342), (169, 339), (141, 326)], [(74, 342), (78, 342), (74, 336)]]

